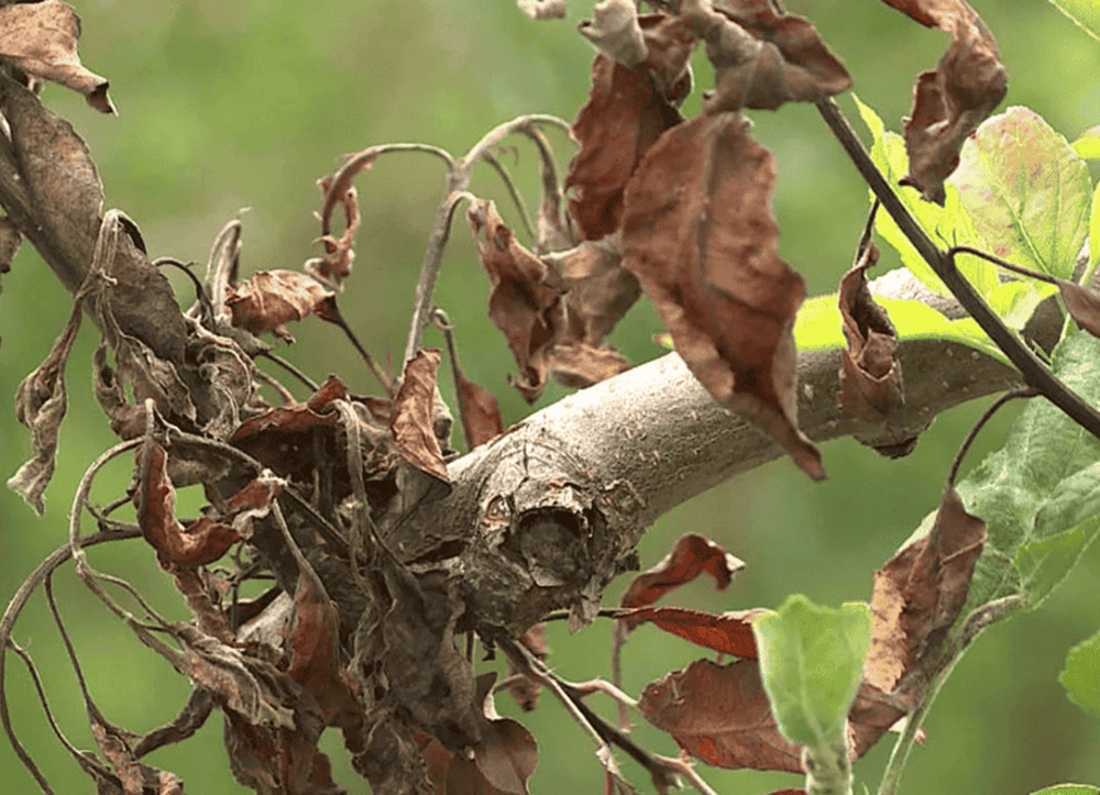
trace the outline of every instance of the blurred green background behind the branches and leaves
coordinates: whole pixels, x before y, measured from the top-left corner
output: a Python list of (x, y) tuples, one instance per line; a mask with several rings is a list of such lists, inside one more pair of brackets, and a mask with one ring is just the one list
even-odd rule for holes
[[(1007, 104), (1035, 109), (1069, 137), (1100, 122), (1100, 43), (1041, 0), (978, 0), (975, 5), (1011, 73)], [(898, 129), (915, 75), (934, 66), (946, 37), (877, 2), (789, 0), (788, 7), (816, 23), (848, 65), (860, 97)], [(120, 117), (101, 117), (56, 86), (45, 89), (44, 99), (87, 140), (105, 184), (106, 207), (123, 209), (141, 225), (153, 256), (200, 263), (221, 225), (241, 208), (252, 208), (243, 216), (248, 273), (298, 268), (317, 254), (314, 183), (331, 174), (341, 155), (392, 141), (425, 141), (461, 154), (484, 131), (518, 114), (572, 120), (588, 90), (592, 51), (575, 25), (591, 15), (591, 7), (579, 0), (566, 21), (544, 23), (527, 20), (512, 0), (330, 0), (307, 8), (275, 0), (97, 0), (78, 3), (77, 10), (84, 21), (84, 63), (110, 79)], [(701, 88), (710, 87), (702, 60), (695, 74)], [(840, 103), (858, 118), (850, 99)], [(685, 110), (695, 108), (697, 99), (689, 100)], [(780, 251), (805, 275), (811, 294), (832, 291), (851, 260), (866, 188), (813, 108), (785, 107), (752, 118), (758, 140), (778, 161)], [(568, 142), (551, 135), (564, 164)], [(505, 159), (516, 163), (534, 201), (535, 155), (524, 141), (510, 143), (516, 155)], [(433, 158), (392, 155), (356, 181), (363, 223), (341, 306), (376, 357), (400, 357), (442, 179)], [(491, 169), (483, 168), (473, 189), (496, 198), (506, 219), (515, 221)], [(897, 265), (890, 253), (883, 260), (886, 267)], [(175, 284), (189, 303), (187, 285)], [(530, 409), (507, 387), (514, 365), (485, 316), (486, 297), (486, 279), (460, 217), (438, 302), (458, 329), (468, 374), (496, 393), (510, 423)], [(68, 296), (24, 246), (0, 296), (4, 478), (30, 454), (11, 397), (45, 356), (68, 306)], [(639, 306), (613, 342), (641, 362), (662, 353), (651, 342), (659, 330), (656, 313)], [(333, 327), (310, 320), (293, 331), (298, 343), (285, 354), (316, 379), (338, 373), (355, 390), (375, 390)], [(63, 543), (76, 483), (114, 441), (89, 386), (95, 336), (86, 324), (69, 363), (70, 409), (46, 515), (35, 518), (13, 494), (0, 493), (0, 594), (6, 599)], [(431, 332), (428, 344), (441, 340)], [(552, 388), (540, 405), (563, 394)], [(785, 460), (737, 478), (663, 517), (641, 543), (644, 565), (659, 560), (681, 533), (700, 532), (725, 544), (748, 568), (728, 592), (716, 594), (700, 583), (678, 595), (679, 604), (712, 610), (776, 607), (792, 592), (827, 605), (866, 599), (872, 572), (935, 507), (950, 456), (980, 409), (967, 406), (941, 417), (916, 452), (897, 462), (855, 442), (827, 444), (831, 479), (824, 484), (811, 483)], [(1004, 412), (982, 434), (971, 464), (997, 445), (1012, 416)], [(131, 465), (123, 460), (109, 467), (95, 495), (100, 504), (122, 493)], [(180, 515), (194, 515), (199, 504), (197, 495), (183, 493)], [(128, 577), (168, 618), (186, 619), (186, 608), (141, 542), (111, 546), (91, 552), (92, 564)], [(1041, 611), (981, 638), (936, 703), (926, 722), (927, 742), (911, 758), (903, 792), (1027, 793), (1060, 781), (1100, 782), (1100, 726), (1065, 698), (1056, 681), (1067, 649), (1100, 625), (1098, 576), (1100, 554), (1092, 550)], [(606, 603), (614, 604), (623, 587), (613, 584)], [(72, 567), (58, 573), (56, 590), (89, 687), (107, 717), (138, 732), (169, 720), (189, 692), (186, 682), (123, 631), (76, 582)], [(609, 634), (606, 623), (572, 637), (553, 626), (551, 662), (573, 680), (609, 675)], [(14, 637), (34, 655), (64, 731), (78, 747), (92, 748), (72, 666), (41, 594)], [(641, 628), (626, 648), (626, 687), (637, 694), (646, 682), (697, 656), (698, 650)], [(12, 716), (22, 741), (56, 792), (92, 792), (52, 738), (22, 663), (9, 655), (8, 664)], [(516, 711), (504, 696), (498, 706)], [(598, 707), (613, 714), (605, 704)], [(543, 695), (522, 720), (540, 747), (532, 792), (601, 791), (591, 743), (558, 704)], [(675, 753), (671, 740), (646, 726), (636, 737), (658, 752)], [(877, 787), (891, 744), (883, 740), (856, 764), (857, 792), (860, 784), (872, 792)], [(328, 738), (327, 748), (349, 791), (366, 792), (350, 773), (339, 738)], [(217, 718), (191, 741), (150, 761), (183, 776), (188, 792), (242, 792), (228, 771)], [(649, 792), (645, 773), (628, 760), (620, 762), (639, 792)], [(799, 785), (787, 774), (700, 770), (726, 794)], [(35, 791), (7, 742), (0, 742), (0, 782), (3, 792)]]

